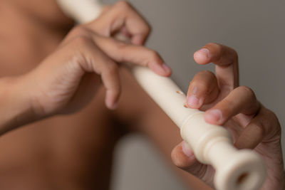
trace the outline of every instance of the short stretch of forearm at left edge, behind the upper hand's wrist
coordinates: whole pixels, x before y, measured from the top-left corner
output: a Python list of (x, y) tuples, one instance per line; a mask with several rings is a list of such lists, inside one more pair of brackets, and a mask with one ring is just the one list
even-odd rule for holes
[(0, 135), (36, 120), (23, 78), (0, 79)]

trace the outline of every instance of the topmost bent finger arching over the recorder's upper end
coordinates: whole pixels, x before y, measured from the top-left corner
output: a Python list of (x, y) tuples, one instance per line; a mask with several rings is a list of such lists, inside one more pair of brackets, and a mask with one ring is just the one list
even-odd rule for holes
[(150, 33), (147, 21), (127, 1), (119, 1), (108, 11), (105, 11), (100, 19), (89, 23), (88, 26), (104, 36), (112, 36), (116, 32), (122, 31), (125, 36), (130, 36), (132, 43), (137, 45), (145, 43)]

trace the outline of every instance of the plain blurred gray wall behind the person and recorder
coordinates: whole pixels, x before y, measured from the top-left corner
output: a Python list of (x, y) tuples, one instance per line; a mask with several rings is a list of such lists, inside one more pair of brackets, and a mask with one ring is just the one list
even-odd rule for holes
[[(195, 64), (193, 53), (209, 42), (224, 43), (239, 53), (241, 85), (251, 87), (285, 125), (285, 1), (130, 2), (152, 25), (147, 46), (159, 51), (172, 66), (172, 78), (184, 90), (199, 70), (213, 69)], [(142, 137), (123, 139), (117, 153), (113, 190), (185, 189)]]

